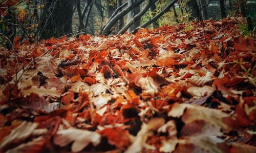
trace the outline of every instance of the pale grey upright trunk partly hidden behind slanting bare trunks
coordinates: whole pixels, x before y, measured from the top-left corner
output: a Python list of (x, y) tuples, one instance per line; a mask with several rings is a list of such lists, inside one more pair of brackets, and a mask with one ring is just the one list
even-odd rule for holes
[[(135, 0), (134, 2), (137, 2), (138, 0)], [(127, 22), (129, 22), (133, 16), (138, 14), (140, 12), (140, 5), (134, 5), (133, 0), (128, 0), (128, 5), (132, 5), (133, 9), (128, 13), (127, 15)], [(140, 18), (134, 22), (134, 24), (129, 28), (129, 32), (132, 32), (134, 29), (140, 26)]]

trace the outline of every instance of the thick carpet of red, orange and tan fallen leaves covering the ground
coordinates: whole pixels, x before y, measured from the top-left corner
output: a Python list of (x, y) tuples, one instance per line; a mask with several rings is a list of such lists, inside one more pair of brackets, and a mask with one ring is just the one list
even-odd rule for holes
[(256, 152), (256, 40), (239, 20), (17, 37), (0, 51), (0, 152)]

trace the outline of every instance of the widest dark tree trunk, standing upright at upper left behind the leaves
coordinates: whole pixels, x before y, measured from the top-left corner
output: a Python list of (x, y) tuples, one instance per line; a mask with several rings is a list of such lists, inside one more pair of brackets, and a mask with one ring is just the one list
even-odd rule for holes
[(73, 5), (74, 1), (69, 0), (45, 0), (38, 39), (58, 38), (72, 33)]

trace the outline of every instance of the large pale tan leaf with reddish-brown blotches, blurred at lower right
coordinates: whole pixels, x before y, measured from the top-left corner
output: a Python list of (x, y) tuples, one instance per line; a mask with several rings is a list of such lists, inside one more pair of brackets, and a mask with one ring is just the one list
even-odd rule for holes
[(175, 103), (168, 116), (181, 117), (185, 123), (182, 136), (220, 135), (221, 130), (228, 132), (233, 129), (234, 120), (228, 114), (199, 105)]

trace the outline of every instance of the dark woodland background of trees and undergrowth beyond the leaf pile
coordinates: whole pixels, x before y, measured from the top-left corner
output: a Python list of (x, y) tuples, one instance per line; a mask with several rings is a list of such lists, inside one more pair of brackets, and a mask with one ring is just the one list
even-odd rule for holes
[(241, 15), (241, 31), (253, 31), (255, 0), (0, 0), (0, 43), (34, 42), (81, 34), (109, 35), (191, 20)]

